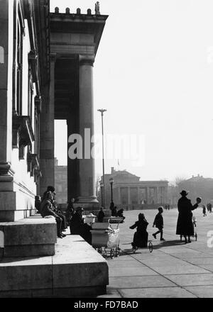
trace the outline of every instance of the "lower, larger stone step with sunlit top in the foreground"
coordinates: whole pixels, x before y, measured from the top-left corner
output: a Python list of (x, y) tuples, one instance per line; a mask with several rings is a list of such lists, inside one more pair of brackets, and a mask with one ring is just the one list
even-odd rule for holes
[(80, 235), (58, 238), (55, 255), (0, 261), (0, 297), (83, 297), (106, 294), (107, 261)]

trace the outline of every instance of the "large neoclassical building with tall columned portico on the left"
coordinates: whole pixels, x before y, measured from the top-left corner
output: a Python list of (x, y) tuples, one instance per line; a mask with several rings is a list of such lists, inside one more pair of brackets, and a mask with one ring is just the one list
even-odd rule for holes
[(72, 135), (94, 134), (92, 71), (107, 17), (0, 1), (0, 222), (31, 216), (35, 195), (55, 186), (55, 119), (67, 120), (67, 198), (98, 205), (94, 160), (72, 157)]

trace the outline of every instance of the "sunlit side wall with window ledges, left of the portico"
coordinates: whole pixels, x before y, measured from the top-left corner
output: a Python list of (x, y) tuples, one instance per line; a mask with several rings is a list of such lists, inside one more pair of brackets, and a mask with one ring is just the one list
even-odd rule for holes
[(16, 221), (33, 213), (40, 184), (49, 1), (0, 1), (0, 12), (0, 221)]

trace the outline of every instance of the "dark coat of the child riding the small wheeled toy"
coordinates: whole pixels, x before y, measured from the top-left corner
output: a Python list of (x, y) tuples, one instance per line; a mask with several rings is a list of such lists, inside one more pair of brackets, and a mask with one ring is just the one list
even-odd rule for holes
[(148, 243), (148, 233), (146, 231), (148, 222), (146, 219), (141, 221), (136, 221), (135, 224), (131, 225), (129, 228), (132, 230), (137, 228), (136, 233), (133, 236), (133, 244), (135, 247), (147, 247)]

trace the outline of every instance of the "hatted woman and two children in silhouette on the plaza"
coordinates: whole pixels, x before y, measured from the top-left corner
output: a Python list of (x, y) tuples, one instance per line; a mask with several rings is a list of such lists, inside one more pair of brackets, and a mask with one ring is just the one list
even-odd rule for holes
[[(187, 191), (182, 190), (180, 192), (181, 198), (178, 200), (178, 222), (176, 228), (176, 234), (185, 238), (185, 243), (191, 243), (190, 236), (194, 236), (194, 223), (192, 221), (192, 211), (195, 210), (201, 203), (201, 198), (197, 197), (196, 204), (192, 205), (190, 199), (187, 199)], [(136, 233), (133, 235), (133, 247), (147, 247), (148, 243), (148, 222), (143, 213), (138, 214), (138, 221), (130, 226), (131, 229), (136, 228)], [(158, 228), (158, 231), (153, 233), (153, 237), (156, 239), (156, 235), (160, 233), (160, 240), (163, 238), (163, 207), (158, 208), (158, 213), (155, 216), (153, 227)]]

